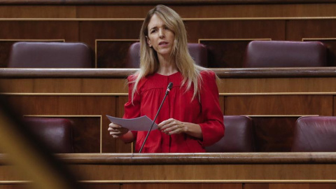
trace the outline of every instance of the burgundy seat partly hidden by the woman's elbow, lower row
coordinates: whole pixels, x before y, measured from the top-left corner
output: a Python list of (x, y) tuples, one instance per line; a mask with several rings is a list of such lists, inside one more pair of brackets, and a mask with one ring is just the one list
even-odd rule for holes
[(247, 116), (224, 116), (224, 137), (207, 152), (254, 152), (253, 123)]

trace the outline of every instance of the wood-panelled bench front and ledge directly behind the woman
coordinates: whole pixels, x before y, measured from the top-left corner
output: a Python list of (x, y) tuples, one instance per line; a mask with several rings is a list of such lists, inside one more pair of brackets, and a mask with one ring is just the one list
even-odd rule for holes
[[(213, 69), (224, 115), (253, 119), (258, 152), (288, 152), (300, 116), (336, 116), (335, 68)], [(136, 69), (0, 69), (1, 95), (25, 116), (76, 123), (76, 153), (130, 153), (106, 115), (123, 116)]]

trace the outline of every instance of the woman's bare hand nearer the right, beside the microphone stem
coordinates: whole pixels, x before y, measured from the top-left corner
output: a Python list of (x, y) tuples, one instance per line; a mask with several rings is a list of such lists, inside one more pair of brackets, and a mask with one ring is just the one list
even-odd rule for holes
[(162, 121), (158, 125), (158, 130), (161, 130), (165, 134), (179, 134), (187, 131), (185, 123), (170, 118), (169, 120)]

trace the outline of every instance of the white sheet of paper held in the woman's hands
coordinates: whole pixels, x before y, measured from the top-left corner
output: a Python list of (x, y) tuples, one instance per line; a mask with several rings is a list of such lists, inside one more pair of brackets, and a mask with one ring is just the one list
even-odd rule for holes
[[(153, 123), (153, 120), (151, 120), (147, 116), (141, 116), (139, 118), (133, 119), (115, 118), (112, 116), (107, 116), (107, 118), (109, 118), (111, 123), (116, 123), (118, 125), (126, 127), (130, 131), (148, 131)], [(152, 130), (156, 129), (158, 129), (158, 125), (154, 123)]]

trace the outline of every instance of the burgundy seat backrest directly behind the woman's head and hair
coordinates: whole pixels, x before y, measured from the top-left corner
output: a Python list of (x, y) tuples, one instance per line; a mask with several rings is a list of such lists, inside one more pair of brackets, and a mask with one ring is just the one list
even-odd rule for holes
[[(203, 67), (208, 66), (207, 47), (200, 43), (188, 43), (190, 56), (193, 57), (195, 64)], [(133, 43), (127, 52), (125, 67), (139, 68), (140, 65), (140, 42)]]

